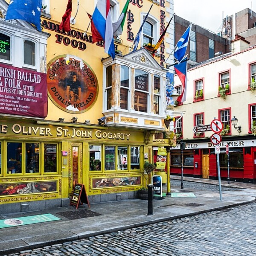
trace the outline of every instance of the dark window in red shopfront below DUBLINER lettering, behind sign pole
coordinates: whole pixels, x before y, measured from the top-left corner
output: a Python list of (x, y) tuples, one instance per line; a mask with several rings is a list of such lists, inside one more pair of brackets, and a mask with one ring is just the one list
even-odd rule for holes
[[(220, 154), (220, 167), (227, 168), (227, 154)], [(242, 148), (230, 149), (230, 169), (242, 169), (244, 167), (244, 155)]]

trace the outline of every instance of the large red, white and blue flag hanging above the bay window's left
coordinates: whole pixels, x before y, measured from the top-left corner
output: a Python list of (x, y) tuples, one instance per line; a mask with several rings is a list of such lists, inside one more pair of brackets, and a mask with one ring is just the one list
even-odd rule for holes
[(105, 52), (115, 58), (113, 26), (110, 12), (110, 0), (98, 0), (92, 16), (96, 30), (105, 41)]

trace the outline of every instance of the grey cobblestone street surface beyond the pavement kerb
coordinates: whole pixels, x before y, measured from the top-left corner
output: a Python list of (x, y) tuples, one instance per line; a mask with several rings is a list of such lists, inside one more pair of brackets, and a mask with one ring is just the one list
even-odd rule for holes
[[(178, 188), (180, 181), (172, 180)], [(185, 189), (218, 186), (184, 182)], [(232, 188), (223, 188), (234, 190)], [(129, 230), (26, 250), (12, 256), (255, 255), (256, 204), (165, 221)]]

